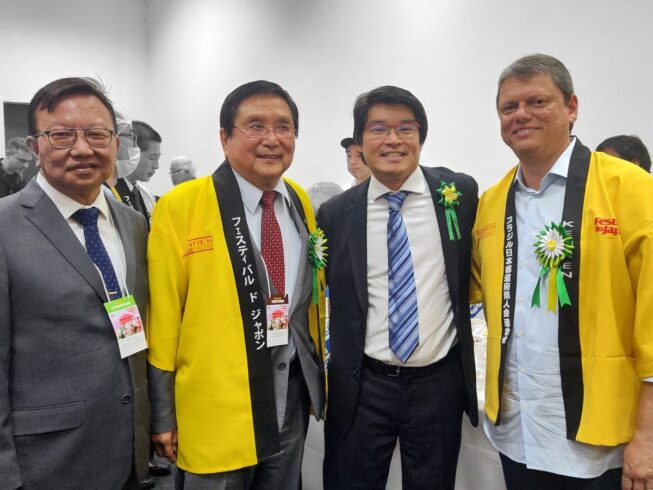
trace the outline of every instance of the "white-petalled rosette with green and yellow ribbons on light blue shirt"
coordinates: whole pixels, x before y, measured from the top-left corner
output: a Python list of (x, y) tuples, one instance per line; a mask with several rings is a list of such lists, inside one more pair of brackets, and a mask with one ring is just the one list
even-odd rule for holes
[(547, 309), (555, 312), (558, 301), (560, 301), (560, 306), (571, 305), (560, 264), (571, 256), (574, 250), (573, 239), (562, 225), (552, 222), (550, 225), (544, 226), (544, 230), (535, 236), (535, 240), (533, 244), (535, 246), (535, 256), (542, 268), (533, 291), (531, 307), (537, 306), (539, 308), (540, 283), (549, 274)]

